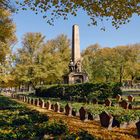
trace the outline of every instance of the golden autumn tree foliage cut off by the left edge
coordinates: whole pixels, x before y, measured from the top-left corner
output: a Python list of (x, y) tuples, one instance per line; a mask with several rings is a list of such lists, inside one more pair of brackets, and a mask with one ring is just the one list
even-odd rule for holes
[(0, 84), (6, 84), (11, 79), (12, 45), (15, 42), (15, 24), (11, 12), (0, 5)]

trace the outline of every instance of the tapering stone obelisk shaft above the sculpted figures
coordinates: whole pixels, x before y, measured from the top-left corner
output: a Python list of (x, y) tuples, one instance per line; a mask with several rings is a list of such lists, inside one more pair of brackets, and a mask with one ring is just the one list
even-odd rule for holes
[(79, 37), (78, 25), (73, 25), (73, 28), (72, 28), (72, 61), (75, 64), (77, 63), (77, 61), (81, 61), (80, 37)]

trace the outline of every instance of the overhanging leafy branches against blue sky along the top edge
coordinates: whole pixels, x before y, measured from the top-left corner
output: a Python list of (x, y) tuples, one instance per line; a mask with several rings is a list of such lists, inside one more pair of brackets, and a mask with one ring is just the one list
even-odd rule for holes
[(129, 22), (133, 14), (140, 15), (139, 0), (17, 0), (23, 10), (30, 8), (44, 13), (49, 24), (60, 17), (68, 18), (68, 14), (76, 16), (83, 10), (89, 16), (92, 25), (99, 21), (111, 19), (112, 25), (118, 28)]

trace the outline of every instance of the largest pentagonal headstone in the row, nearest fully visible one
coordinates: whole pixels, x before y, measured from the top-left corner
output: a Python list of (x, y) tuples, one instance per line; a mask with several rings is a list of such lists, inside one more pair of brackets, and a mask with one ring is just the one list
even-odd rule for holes
[(101, 126), (107, 127), (108, 129), (111, 129), (112, 122), (113, 122), (113, 116), (111, 116), (106, 111), (102, 112), (99, 116), (100, 116)]

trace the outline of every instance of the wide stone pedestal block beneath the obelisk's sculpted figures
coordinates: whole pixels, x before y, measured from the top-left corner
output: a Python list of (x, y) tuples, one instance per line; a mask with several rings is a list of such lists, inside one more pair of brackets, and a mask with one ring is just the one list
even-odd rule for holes
[(88, 82), (88, 76), (84, 72), (70, 72), (64, 76), (64, 84), (78, 84)]

